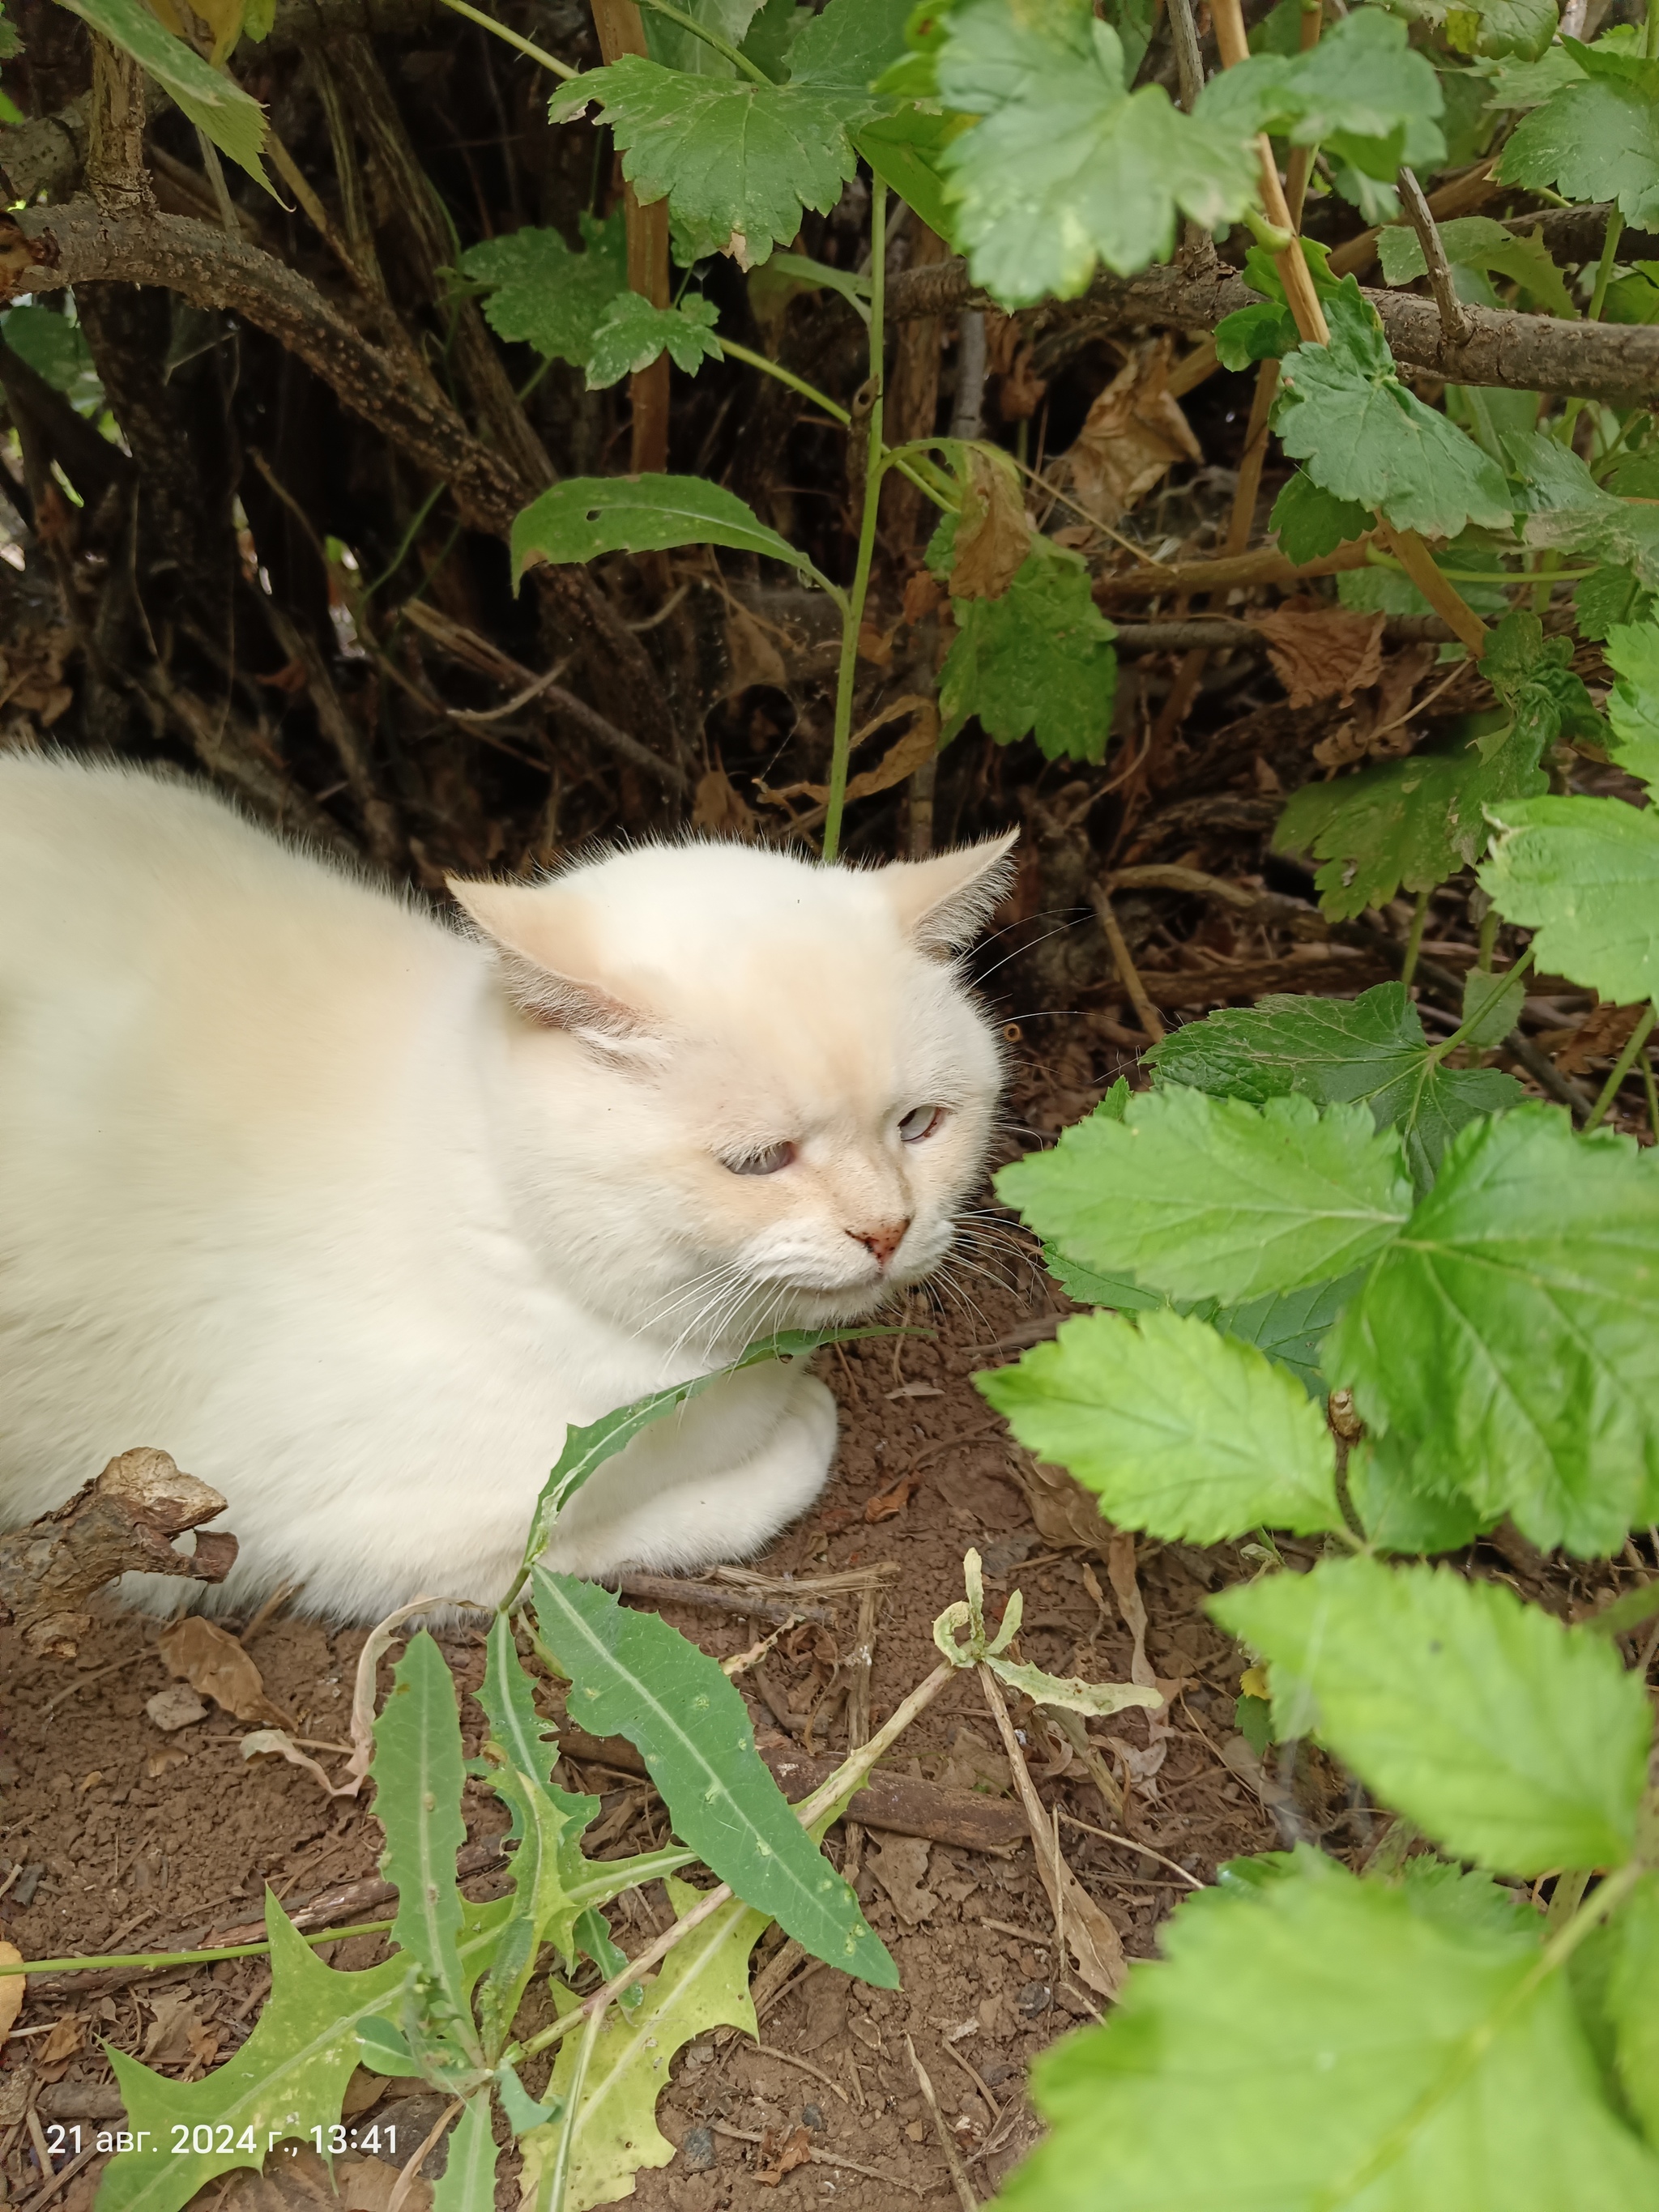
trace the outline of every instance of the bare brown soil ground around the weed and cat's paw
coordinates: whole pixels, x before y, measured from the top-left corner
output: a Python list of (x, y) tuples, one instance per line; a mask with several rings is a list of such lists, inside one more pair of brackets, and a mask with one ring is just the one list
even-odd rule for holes
[[(1026, 1130), (1046, 1135), (1086, 1110), (1115, 1073), (1110, 1062), (1106, 1051), (1073, 1044), (1055, 1064), (1029, 1064), (1018, 1084)], [(938, 1310), (916, 1303), (911, 1321), (931, 1325), (936, 1336), (849, 1345), (823, 1360), (843, 1402), (836, 1475), (821, 1504), (754, 1562), (801, 1579), (880, 1562), (896, 1568), (883, 1590), (874, 1646), (876, 1723), (929, 1672), (931, 1621), (962, 1595), (969, 1544), (984, 1553), (993, 1608), (1011, 1588), (1024, 1590), (1024, 1657), (1055, 1672), (1128, 1679), (1130, 1632), (1104, 1564), (1106, 1526), (1093, 1520), (1093, 1509), (1075, 1511), (1082, 1493), (1066, 1498), (1044, 1484), (969, 1380), (978, 1367), (1015, 1358), (1066, 1312), (1018, 1232), (987, 1228), (987, 1237), (998, 1241), (987, 1245), (982, 1270), (964, 1272)], [(911, 1475), (916, 1486), (896, 1504)], [(876, 1500), (883, 1506), (872, 1517)], [(885, 1506), (896, 1506), (889, 1517), (880, 1517)], [(1484, 1568), (1517, 1579), (1559, 1610), (1588, 1593), (1588, 1582), (1575, 1590), (1526, 1551), (1511, 1544), (1489, 1553)], [(1031, 1708), (1015, 1710), (1015, 1721), (1029, 1730), (1033, 1774), (1044, 1805), (1060, 1814), (1073, 1871), (1115, 1922), (1126, 1953), (1144, 1958), (1183, 1889), (1183, 1874), (1208, 1882), (1219, 1860), (1272, 1849), (1296, 1834), (1358, 1863), (1376, 1840), (1378, 1816), (1318, 1754), (1303, 1752), (1294, 1774), (1263, 1774), (1234, 1730), (1243, 1655), (1208, 1624), (1203, 1599), (1252, 1573), (1254, 1562), (1230, 1546), (1141, 1544), (1135, 1564), (1150, 1619), (1150, 1661), (1161, 1679), (1181, 1686), (1161, 1770), (1133, 1781), (1117, 1814)], [(1606, 1586), (1617, 1573), (1595, 1568), (1588, 1579)], [(783, 1741), (774, 1708), (785, 1717), (816, 1710), (812, 1750), (841, 1750), (847, 1741), (841, 1688), (858, 1599), (836, 1595), (830, 1604), (830, 1626), (799, 1628), (772, 1650), (765, 1690), (754, 1674), (741, 1679), (763, 1743)], [(757, 1637), (743, 1617), (688, 1606), (666, 1613), (719, 1657), (745, 1650)], [(173, 1734), (148, 1721), (146, 1699), (168, 1683), (155, 1637), (155, 1621), (111, 1613), (73, 1661), (31, 1661), (11, 1632), (0, 1632), (7, 1889), (0, 1931), (24, 1958), (197, 1947), (257, 1916), (265, 1882), (299, 1907), (376, 1869), (380, 1832), (369, 1805), (330, 1801), (312, 1778), (274, 1759), (243, 1761), (246, 1725), (228, 1714), (212, 1712)], [(299, 1732), (338, 1741), (361, 1644), (361, 1630), (330, 1632), (279, 1617), (252, 1632), (250, 1650), (270, 1697), (296, 1717)], [(442, 1637), (462, 1692), (482, 1677), (480, 1644), (473, 1632)], [(482, 1717), (465, 1697), (462, 1714), (473, 1750)], [(1106, 1736), (1130, 1752), (1146, 1750), (1146, 1717), (1128, 1712), (1097, 1723), (1095, 1739)], [(1110, 1747), (1108, 1759), (1121, 1781), (1124, 1761)], [(933, 1703), (891, 1765), (1009, 1798), (995, 1723), (971, 1677)], [(602, 1796), (602, 1818), (588, 1836), (595, 1856), (661, 1840), (661, 1807), (641, 1785), (571, 1763), (557, 1778)], [(467, 1816), (473, 1838), (504, 1825), (482, 1783), (469, 1785)], [(1159, 1856), (1113, 1843), (1099, 1829), (1128, 1834)], [(841, 1863), (841, 1829), (830, 1849)], [(898, 1960), (902, 1989), (872, 1991), (807, 1966), (765, 2011), (761, 2048), (739, 2035), (692, 2044), (659, 2106), (659, 2124), (679, 2148), (668, 2168), (639, 2177), (641, 2212), (958, 2205), (907, 2037), (980, 2199), (995, 2194), (1000, 2177), (1035, 2139), (1026, 2104), (1031, 2062), (1088, 2020), (1097, 2000), (1055, 1951), (1031, 1847), (991, 1854), (883, 1843), (869, 1834), (856, 1885)], [(491, 1896), (500, 1887), (500, 1874), (480, 1876), (469, 1893)], [(633, 1918), (626, 1909), (613, 1916), (617, 1938), (637, 1949), (666, 1924), (661, 1916), (661, 1898), (646, 1896)], [(325, 1947), (323, 1955), (365, 1966), (383, 1947), (374, 1936), (354, 1938)], [(759, 1962), (765, 1958), (763, 1947)], [(164, 2073), (197, 2077), (237, 2051), (265, 1989), (261, 1960), (153, 1978), (33, 1982), (22, 2033), (7, 2044), (0, 2073), (7, 2199), (31, 2201), (42, 2190), (33, 2124), (18, 2117), (31, 2095), (35, 2121), (51, 2121), (53, 2110), (64, 2115), (71, 2101), (108, 2119), (117, 2101), (104, 2042), (146, 2055)], [(53, 2024), (66, 2026), (46, 2033)], [(22, 2068), (33, 2068), (27, 2084)], [(531, 2073), (531, 2086), (535, 2079)], [(367, 2095), (367, 2077), (361, 2081)], [(411, 2148), (440, 2106), (425, 2095), (394, 2106), (405, 2086), (389, 2086), (380, 2112), (396, 2112)], [(62, 2141), (73, 2148), (73, 2137)], [(82, 2121), (80, 2141), (95, 2143), (95, 2121)], [(785, 2143), (814, 2157), (774, 2179), (770, 2168)], [(86, 2212), (102, 2163), (88, 2159), (53, 2201)], [(243, 2174), (215, 2183), (201, 2203), (215, 2212), (283, 2212), (334, 2201), (310, 2154), (276, 2163), (265, 2181)], [(349, 2212), (383, 2212), (389, 2166), (345, 2161), (341, 2174)], [(502, 2205), (515, 2194), (504, 2168)], [(411, 2203), (420, 2212), (420, 2201)]]

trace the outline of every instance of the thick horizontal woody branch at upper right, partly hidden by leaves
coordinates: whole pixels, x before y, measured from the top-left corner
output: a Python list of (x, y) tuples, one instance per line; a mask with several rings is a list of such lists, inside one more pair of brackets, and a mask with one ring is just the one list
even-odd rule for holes
[[(1582, 398), (1646, 403), (1659, 392), (1659, 325), (1568, 323), (1548, 314), (1509, 314), (1467, 307), (1469, 334), (1447, 338), (1431, 299), (1407, 292), (1367, 292), (1383, 319), (1394, 358), (1460, 385), (1498, 385), (1509, 392), (1559, 392)], [(1075, 307), (1097, 330), (1214, 330), (1254, 294), (1225, 263), (1183, 270), (1175, 263), (1141, 276), (1097, 276)], [(887, 294), (887, 312), (905, 323), (916, 314), (953, 314), (984, 294), (969, 283), (958, 257), (905, 270)]]

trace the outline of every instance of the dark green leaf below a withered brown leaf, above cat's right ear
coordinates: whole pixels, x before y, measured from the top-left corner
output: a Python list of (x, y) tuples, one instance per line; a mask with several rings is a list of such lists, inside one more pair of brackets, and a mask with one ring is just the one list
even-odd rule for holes
[(1000, 745), (1035, 737), (1051, 761), (1102, 761), (1117, 697), (1117, 630), (1088, 568), (1037, 546), (1000, 599), (953, 599), (956, 644), (940, 670), (949, 741), (975, 714)]

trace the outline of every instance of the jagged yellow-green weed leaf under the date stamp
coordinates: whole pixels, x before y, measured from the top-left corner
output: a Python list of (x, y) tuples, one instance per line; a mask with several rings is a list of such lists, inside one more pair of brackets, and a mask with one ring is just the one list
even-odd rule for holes
[[(144, 2150), (111, 2159), (97, 2194), (100, 2212), (179, 2212), (217, 2174), (263, 2166), (268, 2148), (332, 2128), (358, 2064), (358, 2028), (396, 2011), (409, 1960), (389, 1958), (367, 1973), (336, 1973), (299, 1936), (265, 1891), (270, 1995), (254, 2031), (232, 2059), (201, 2081), (168, 2081), (124, 2051), (108, 2048), (126, 2124)], [(192, 2146), (173, 2152), (175, 2130)], [(212, 2150), (199, 2150), (197, 2130)], [(248, 2148), (241, 2139), (248, 2139)]]

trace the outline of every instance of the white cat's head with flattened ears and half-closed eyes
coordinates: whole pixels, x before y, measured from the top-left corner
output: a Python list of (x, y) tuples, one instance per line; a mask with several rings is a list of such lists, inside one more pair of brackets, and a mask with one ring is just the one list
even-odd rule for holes
[(891, 867), (641, 845), (451, 891), (493, 945), (557, 1272), (688, 1347), (874, 1312), (978, 1186), (1000, 1053), (956, 956), (1011, 836)]

